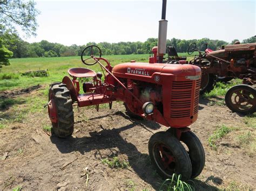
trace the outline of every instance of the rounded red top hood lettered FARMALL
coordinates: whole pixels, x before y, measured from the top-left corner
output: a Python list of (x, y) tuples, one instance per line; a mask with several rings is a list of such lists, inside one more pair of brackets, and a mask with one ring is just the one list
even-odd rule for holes
[(187, 64), (126, 62), (114, 66), (112, 73), (116, 77), (156, 83), (160, 81), (160, 76), (163, 75), (173, 77), (200, 76), (201, 69)]

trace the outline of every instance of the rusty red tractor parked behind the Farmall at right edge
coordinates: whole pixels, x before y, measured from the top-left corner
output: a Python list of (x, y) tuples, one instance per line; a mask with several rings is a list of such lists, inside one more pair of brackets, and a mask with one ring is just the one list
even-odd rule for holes
[[(240, 85), (232, 87), (227, 91), (225, 102), (233, 112), (241, 114), (253, 114), (256, 112), (256, 43), (222, 46), (217, 51), (207, 48), (201, 52), (196, 43), (192, 43), (187, 53), (193, 54), (198, 51), (190, 62), (186, 57), (178, 56), (174, 47), (168, 47), (168, 59), (166, 63), (177, 64), (181, 61), (199, 66), (202, 70), (200, 94), (210, 92), (216, 81), (228, 82), (233, 78), (242, 79)], [(152, 52), (157, 49), (152, 49)]]

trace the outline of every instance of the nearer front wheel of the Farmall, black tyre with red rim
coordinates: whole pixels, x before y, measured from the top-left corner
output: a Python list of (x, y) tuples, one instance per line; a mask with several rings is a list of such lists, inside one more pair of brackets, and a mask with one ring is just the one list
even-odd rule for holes
[(181, 174), (182, 180), (191, 178), (190, 158), (179, 140), (168, 132), (157, 132), (149, 140), (149, 155), (152, 165), (164, 179), (173, 173)]

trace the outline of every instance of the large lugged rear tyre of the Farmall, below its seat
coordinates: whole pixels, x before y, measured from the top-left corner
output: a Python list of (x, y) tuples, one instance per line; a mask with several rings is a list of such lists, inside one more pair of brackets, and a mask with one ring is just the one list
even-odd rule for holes
[(57, 122), (52, 122), (53, 132), (58, 137), (71, 136), (74, 130), (74, 114), (70, 91), (66, 88), (66, 84), (52, 83), (49, 89), (49, 101), (53, 101), (57, 113)]

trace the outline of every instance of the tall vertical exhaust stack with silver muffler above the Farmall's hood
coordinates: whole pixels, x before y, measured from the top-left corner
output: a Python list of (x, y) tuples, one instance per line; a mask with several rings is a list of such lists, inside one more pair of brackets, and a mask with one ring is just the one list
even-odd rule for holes
[(162, 17), (159, 20), (159, 29), (158, 29), (158, 48), (157, 48), (157, 55), (158, 55), (158, 62), (162, 63), (164, 55), (166, 53), (166, 37), (167, 37), (167, 22), (165, 20), (166, 16), (166, 1), (163, 0), (162, 5)]

